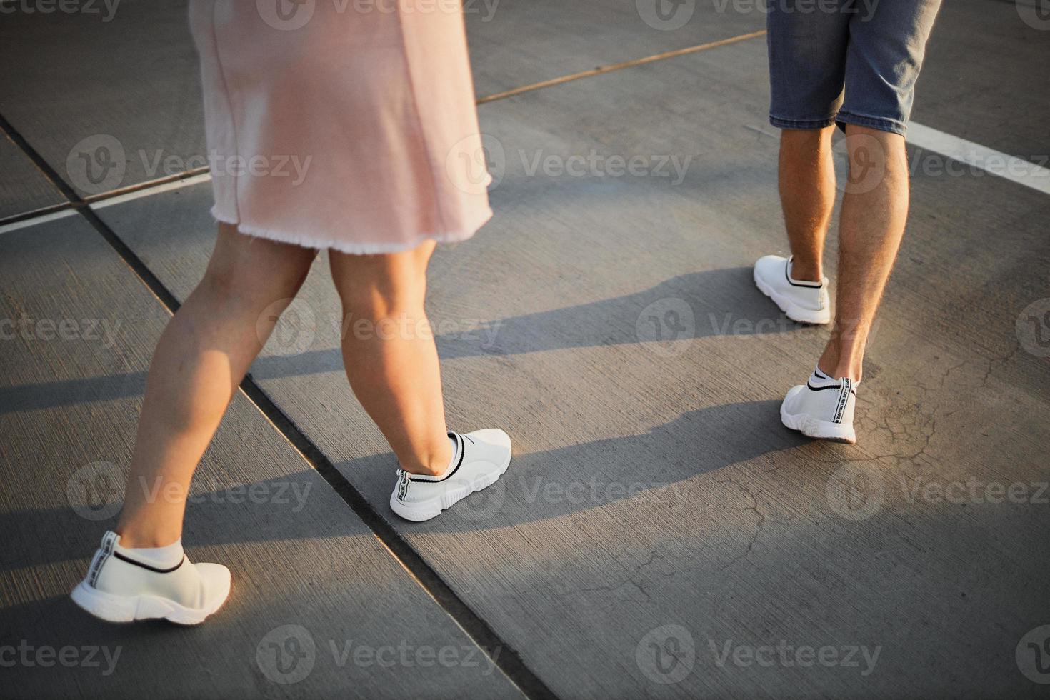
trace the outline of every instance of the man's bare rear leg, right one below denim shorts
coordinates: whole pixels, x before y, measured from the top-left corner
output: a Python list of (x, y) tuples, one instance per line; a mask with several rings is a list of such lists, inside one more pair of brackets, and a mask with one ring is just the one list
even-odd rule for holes
[(859, 382), (864, 345), (904, 235), (908, 164), (904, 137), (888, 131), (847, 124), (846, 149), (835, 325), (817, 366), (828, 377)]

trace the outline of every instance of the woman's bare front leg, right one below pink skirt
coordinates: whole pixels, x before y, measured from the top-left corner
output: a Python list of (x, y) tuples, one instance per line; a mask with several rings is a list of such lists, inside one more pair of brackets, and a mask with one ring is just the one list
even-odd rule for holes
[(452, 460), (438, 351), (423, 309), (434, 246), (385, 255), (330, 252), (350, 385), (401, 467), (416, 474), (440, 474)]

